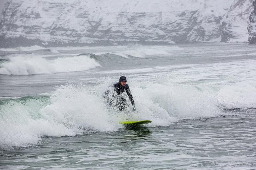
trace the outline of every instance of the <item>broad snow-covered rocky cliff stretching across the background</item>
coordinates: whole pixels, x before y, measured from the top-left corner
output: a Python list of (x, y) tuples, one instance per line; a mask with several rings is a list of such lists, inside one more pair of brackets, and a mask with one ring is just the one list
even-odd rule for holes
[(8, 0), (0, 47), (246, 41), (252, 0)]

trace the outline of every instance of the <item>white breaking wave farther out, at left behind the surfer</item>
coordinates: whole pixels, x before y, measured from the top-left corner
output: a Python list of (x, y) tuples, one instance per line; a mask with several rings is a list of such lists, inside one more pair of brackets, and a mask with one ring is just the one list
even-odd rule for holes
[(87, 55), (48, 60), (39, 56), (19, 55), (0, 64), (0, 74), (29, 75), (85, 71), (101, 66)]

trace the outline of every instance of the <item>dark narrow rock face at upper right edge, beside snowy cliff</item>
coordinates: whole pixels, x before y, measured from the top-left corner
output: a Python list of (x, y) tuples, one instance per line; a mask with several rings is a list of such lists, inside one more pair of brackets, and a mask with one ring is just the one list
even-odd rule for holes
[(252, 11), (249, 19), (250, 24), (248, 26), (248, 32), (249, 32), (249, 44), (256, 44), (256, 0), (253, 1), (253, 7), (254, 10)]

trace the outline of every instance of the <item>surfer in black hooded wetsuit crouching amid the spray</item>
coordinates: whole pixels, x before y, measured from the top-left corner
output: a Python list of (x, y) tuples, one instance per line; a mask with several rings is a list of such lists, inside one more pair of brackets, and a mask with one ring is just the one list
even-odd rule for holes
[(107, 90), (104, 93), (104, 98), (107, 99), (109, 106), (115, 105), (118, 107), (120, 111), (123, 111), (126, 106), (129, 106), (126, 102), (126, 99), (120, 96), (120, 94), (122, 94), (125, 91), (132, 103), (132, 111), (135, 112), (136, 108), (132, 97), (132, 93), (130, 91), (129, 85), (127, 85), (126, 82), (126, 77), (121, 76), (119, 78), (119, 82), (111, 86), (114, 91), (111, 93), (110, 90)]

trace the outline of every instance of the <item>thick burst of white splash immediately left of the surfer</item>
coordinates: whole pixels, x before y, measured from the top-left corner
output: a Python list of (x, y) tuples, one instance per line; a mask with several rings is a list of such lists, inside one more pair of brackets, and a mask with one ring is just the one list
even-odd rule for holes
[(88, 92), (86, 87), (60, 86), (51, 96), (51, 101), (51, 105), (41, 110), (47, 119), (100, 131), (115, 130), (117, 122), (111, 123), (113, 118), (102, 98)]

